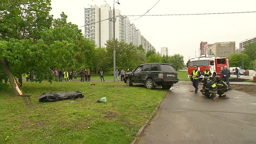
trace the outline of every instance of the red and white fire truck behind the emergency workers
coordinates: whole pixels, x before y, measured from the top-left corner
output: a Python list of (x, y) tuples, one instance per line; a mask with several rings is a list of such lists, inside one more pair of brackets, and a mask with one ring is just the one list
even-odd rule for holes
[[(214, 77), (217, 75), (222, 78), (220, 73), (222, 69), (224, 69), (224, 66), (228, 66), (229, 69), (229, 60), (225, 57), (217, 57), (216, 55), (201, 55), (199, 58), (191, 58), (188, 63), (188, 78), (190, 78), (191, 81), (193, 80), (191, 73), (195, 65), (198, 66), (198, 70), (200, 70), (201, 74), (203, 74), (203, 71), (208, 67), (209, 71), (212, 73), (210, 79), (214, 80)], [(203, 77), (204, 76), (201, 75), (200, 80), (202, 80)]]

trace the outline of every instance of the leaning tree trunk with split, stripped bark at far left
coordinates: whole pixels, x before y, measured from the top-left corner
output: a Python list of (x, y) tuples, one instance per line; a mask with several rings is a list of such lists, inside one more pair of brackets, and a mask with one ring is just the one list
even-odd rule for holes
[(6, 58), (1, 58), (1, 63), (3, 64), (4, 67), (4, 71), (6, 73), (6, 75), (8, 76), (12, 89), (14, 90), (14, 93), (16, 96), (23, 96), (22, 91), (20, 90), (20, 87), (18, 86), (18, 82), (14, 76), (14, 74), (12, 74), (9, 64), (6, 60)]

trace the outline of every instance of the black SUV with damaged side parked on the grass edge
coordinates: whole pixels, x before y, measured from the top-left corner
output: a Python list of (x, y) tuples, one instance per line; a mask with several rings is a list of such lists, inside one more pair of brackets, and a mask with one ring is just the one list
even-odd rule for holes
[(134, 72), (127, 73), (124, 77), (124, 83), (127, 86), (132, 86), (133, 84), (146, 85), (147, 89), (154, 89), (155, 86), (170, 89), (177, 82), (177, 71), (171, 64), (165, 63), (139, 65)]

